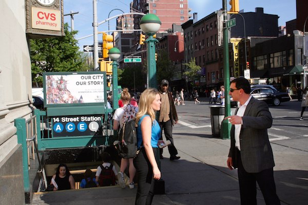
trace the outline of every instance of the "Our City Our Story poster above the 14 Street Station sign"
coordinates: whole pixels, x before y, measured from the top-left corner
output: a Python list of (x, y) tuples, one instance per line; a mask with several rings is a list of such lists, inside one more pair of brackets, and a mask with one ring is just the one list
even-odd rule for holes
[(106, 104), (105, 72), (44, 73), (44, 106)]

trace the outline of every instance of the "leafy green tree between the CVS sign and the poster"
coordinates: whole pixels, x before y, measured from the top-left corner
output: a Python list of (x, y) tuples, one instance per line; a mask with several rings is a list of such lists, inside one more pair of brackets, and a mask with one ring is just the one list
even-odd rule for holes
[(68, 31), (64, 24), (65, 36), (30, 39), (31, 72), (33, 81), (42, 83), (44, 72), (76, 72), (90, 69), (88, 54), (79, 51), (78, 31)]

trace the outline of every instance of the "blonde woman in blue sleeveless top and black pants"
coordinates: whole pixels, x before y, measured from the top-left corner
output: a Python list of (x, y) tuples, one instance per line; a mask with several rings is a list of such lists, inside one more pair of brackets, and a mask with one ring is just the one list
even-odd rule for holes
[[(138, 190), (135, 204), (151, 204), (154, 196), (154, 180), (160, 179), (161, 172), (156, 162), (161, 129), (156, 118), (156, 111), (161, 108), (158, 90), (146, 89), (140, 96), (139, 112), (136, 115), (138, 147), (140, 153), (133, 163), (138, 173)], [(158, 156), (157, 156), (158, 157)]]

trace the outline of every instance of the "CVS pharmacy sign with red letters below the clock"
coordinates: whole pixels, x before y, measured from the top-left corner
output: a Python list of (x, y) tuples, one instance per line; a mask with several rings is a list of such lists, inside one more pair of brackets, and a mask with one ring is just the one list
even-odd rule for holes
[(32, 28), (61, 31), (61, 12), (32, 7)]

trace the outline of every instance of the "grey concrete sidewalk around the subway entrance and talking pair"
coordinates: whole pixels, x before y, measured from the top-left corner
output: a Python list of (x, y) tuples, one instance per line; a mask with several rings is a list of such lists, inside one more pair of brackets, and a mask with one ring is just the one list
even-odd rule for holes
[[(200, 100), (206, 101), (206, 98)], [(187, 106), (192, 104), (187, 100)], [(161, 167), (165, 194), (155, 195), (152, 204), (240, 204), (237, 170), (231, 171), (226, 166), (230, 140), (214, 138), (210, 127), (192, 131), (176, 125), (173, 133), (181, 159), (170, 161), (168, 151), (164, 150)], [(307, 145), (308, 138), (303, 138), (301, 142)], [(274, 176), (281, 204), (307, 204), (308, 147), (297, 150), (272, 144), (272, 148), (276, 163)], [(136, 192), (137, 186), (132, 190), (114, 186), (36, 193), (32, 204), (133, 205)], [(265, 204), (260, 191), (257, 200), (258, 205)]]

